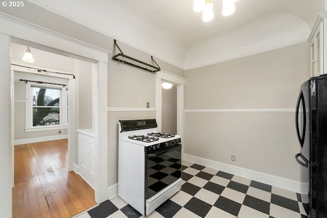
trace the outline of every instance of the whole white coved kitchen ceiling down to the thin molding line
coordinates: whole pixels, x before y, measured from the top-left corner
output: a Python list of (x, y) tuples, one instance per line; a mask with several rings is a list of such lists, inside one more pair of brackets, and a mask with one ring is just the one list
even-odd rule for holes
[(203, 22), (192, 0), (28, 1), (183, 69), (307, 40), (325, 9), (324, 0), (238, 0), (224, 17), (213, 0), (215, 17)]

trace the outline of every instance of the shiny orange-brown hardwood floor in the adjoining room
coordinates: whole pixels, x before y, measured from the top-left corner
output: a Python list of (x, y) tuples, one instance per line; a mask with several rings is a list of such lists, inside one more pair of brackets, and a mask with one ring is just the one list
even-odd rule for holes
[(94, 190), (67, 170), (67, 139), (15, 149), (13, 217), (72, 217), (95, 206)]

